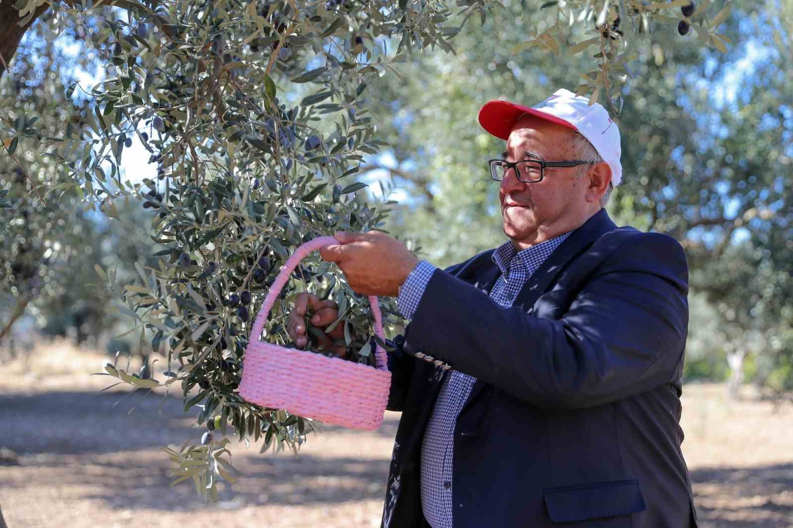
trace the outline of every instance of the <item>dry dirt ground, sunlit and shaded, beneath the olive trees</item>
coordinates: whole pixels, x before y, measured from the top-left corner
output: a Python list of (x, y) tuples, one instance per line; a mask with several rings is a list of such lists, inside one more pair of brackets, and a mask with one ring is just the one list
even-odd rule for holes
[[(192, 483), (170, 487), (162, 450), (204, 429), (178, 397), (98, 392), (111, 378), (88, 374), (104, 361), (61, 345), (0, 362), (0, 505), (10, 528), (379, 526), (397, 413), (374, 433), (325, 427), (298, 457), (234, 442), (243, 475), (208, 504)], [(793, 408), (748, 389), (735, 404), (724, 394), (684, 387), (699, 526), (793, 528)]]

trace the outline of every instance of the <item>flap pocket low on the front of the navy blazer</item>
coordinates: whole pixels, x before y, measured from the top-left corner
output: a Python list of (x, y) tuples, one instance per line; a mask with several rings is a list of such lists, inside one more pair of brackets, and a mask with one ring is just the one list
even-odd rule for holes
[(551, 522), (585, 521), (644, 511), (638, 480), (545, 488), (542, 499)]

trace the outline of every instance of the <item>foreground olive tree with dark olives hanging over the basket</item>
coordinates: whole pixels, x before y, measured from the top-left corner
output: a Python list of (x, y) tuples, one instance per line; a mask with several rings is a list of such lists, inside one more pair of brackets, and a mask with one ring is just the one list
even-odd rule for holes
[[(155, 212), (140, 228), (159, 246), (156, 264), (137, 266), (135, 281), (99, 268), (96, 286), (136, 322), (140, 339), (166, 354), (167, 370), (161, 380), (118, 364), (107, 365), (105, 374), (138, 388), (178, 388), (185, 411), (199, 409), (197, 422), (208, 429), (201, 445), (188, 438), (181, 450), (167, 451), (179, 466), (178, 480), (193, 480), (200, 495), (215, 499), (217, 479), (233, 480), (225, 447), (231, 427), (246, 442), (263, 437), (262, 450), (296, 449), (312, 429), (310, 417), (251, 404), (236, 392), (249, 340), (290, 346), (285, 316), (293, 293), (336, 300), (351, 360), (372, 362), (366, 298), (316, 256), (293, 274), (264, 335), (248, 332), (263, 294), (301, 243), (340, 229), (382, 228), (389, 189), (374, 199), (355, 181), (386, 144), (370, 115), (373, 86), (400, 82), (395, 68), (413, 52), (453, 52), (451, 39), (472, 17), (484, 22), (503, 5), (109, 3), (20, 0), (13, 17), (11, 4), (0, 3), (6, 76), (14, 75), (11, 55), (36, 20), (42, 34), (68, 28), (79, 35), (104, 72), (96, 86), (64, 86), (63, 111), (74, 117), (59, 121), (65, 126), (37, 122), (22, 103), (0, 133), (6, 155), (28, 176), (29, 197), (52, 203), (70, 193), (109, 218), (133, 199)], [(681, 31), (692, 25), (703, 44), (722, 48), (716, 28), (727, 11), (721, 8), (680, 0), (546, 2), (526, 7), (537, 16), (525, 19), (512, 52), (542, 48), (558, 59), (586, 52), (589, 71), (580, 72), (586, 80), (578, 91), (619, 112), (615, 86), (626, 82), (631, 50), (646, 45), (653, 25)], [(140, 183), (120, 170), (133, 138), (158, 167)], [(394, 301), (382, 304), (386, 324), (400, 323)]]

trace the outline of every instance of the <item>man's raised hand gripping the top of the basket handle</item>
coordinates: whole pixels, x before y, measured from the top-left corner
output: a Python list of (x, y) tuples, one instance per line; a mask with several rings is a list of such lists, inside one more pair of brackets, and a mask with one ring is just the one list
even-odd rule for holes
[(403, 243), (380, 231), (339, 231), (334, 236), (340, 244), (323, 247), (320, 255), (341, 268), (357, 293), (396, 296), (419, 263)]

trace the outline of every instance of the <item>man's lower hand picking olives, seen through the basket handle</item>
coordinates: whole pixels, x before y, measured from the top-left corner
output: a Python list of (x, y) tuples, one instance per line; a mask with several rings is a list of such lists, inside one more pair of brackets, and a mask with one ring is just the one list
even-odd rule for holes
[(333, 354), (343, 358), (347, 355), (347, 346), (344, 344), (334, 345), (334, 341), (344, 341), (344, 324), (340, 322), (331, 331), (324, 331), (336, 319), (339, 319), (339, 306), (332, 300), (321, 300), (311, 293), (298, 293), (295, 297), (295, 306), (286, 323), (286, 331), (292, 338), (297, 348), (305, 349), (308, 344), (306, 335), (305, 314), (312, 314), (310, 323), (312, 326), (320, 328), (321, 334), (315, 334), (319, 341), (318, 345), (322, 350), (331, 350)]

